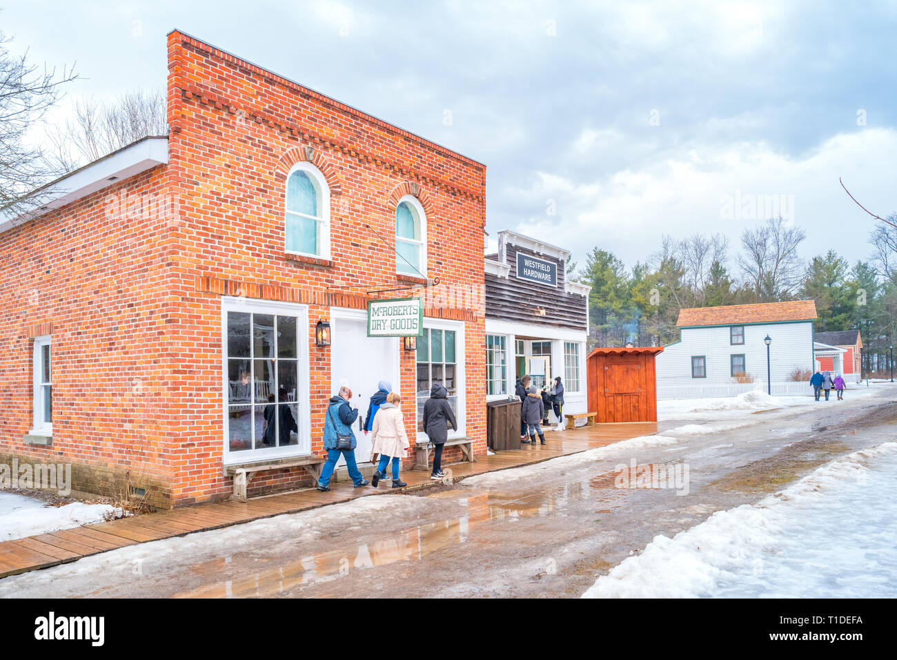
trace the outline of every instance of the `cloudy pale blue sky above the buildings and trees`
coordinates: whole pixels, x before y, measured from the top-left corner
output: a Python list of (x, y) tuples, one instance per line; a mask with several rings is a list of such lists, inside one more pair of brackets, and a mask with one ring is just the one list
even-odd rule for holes
[(631, 266), (661, 233), (735, 248), (779, 200), (805, 258), (865, 259), (875, 221), (839, 176), (897, 212), (895, 3), (0, 7), (13, 51), (77, 62), (73, 98), (161, 88), (177, 28), (455, 149), (488, 166), (493, 238), (527, 233), (580, 265), (597, 245)]

